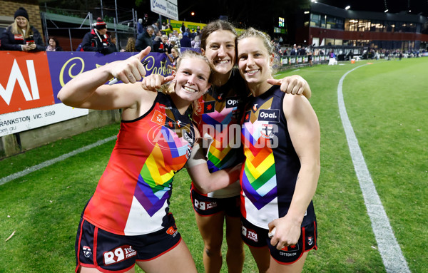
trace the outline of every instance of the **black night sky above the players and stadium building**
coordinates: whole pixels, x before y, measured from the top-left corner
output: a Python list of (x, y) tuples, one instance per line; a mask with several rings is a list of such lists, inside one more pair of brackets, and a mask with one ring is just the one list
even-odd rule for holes
[[(305, 0), (310, 3), (310, 0)], [(178, 0), (178, 16), (179, 20), (193, 21), (198, 23), (208, 24), (210, 21), (219, 19), (221, 15), (228, 16), (228, 20), (232, 21), (235, 26), (240, 29), (246, 29), (253, 26), (269, 33), (272, 36), (273, 26), (277, 25), (278, 16), (285, 17), (287, 29), (289, 31), (288, 38), (294, 38), (296, 28), (298, 9), (293, 9), (290, 3), (303, 3), (302, 0)], [(141, 7), (137, 8), (138, 14), (148, 13), (149, 21), (158, 19), (157, 14), (150, 11), (150, 1), (146, 1)], [(397, 14), (404, 12), (406, 14), (421, 14), (428, 16), (428, 0), (318, 0), (322, 4), (336, 6), (345, 9), (345, 6), (350, 5), (354, 11), (374, 11), (384, 12), (388, 9), (388, 13)], [(190, 13), (194, 11), (195, 15)], [(273, 34), (275, 36), (275, 34)], [(284, 37), (286, 38), (286, 37)]]

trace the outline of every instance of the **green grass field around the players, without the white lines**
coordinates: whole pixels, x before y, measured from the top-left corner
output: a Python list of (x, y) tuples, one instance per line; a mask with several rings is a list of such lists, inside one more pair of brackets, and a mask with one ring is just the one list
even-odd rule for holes
[[(313, 66), (280, 76), (299, 74), (307, 79), (321, 128), (321, 175), (314, 197), (318, 250), (310, 252), (303, 272), (386, 272), (337, 106), (340, 78), (365, 63)], [(343, 82), (347, 114), (413, 273), (428, 272), (427, 68), (428, 58), (374, 61)], [(0, 178), (117, 133), (118, 124), (108, 125), (0, 160)], [(73, 272), (81, 211), (113, 145), (108, 142), (0, 185), (0, 272)], [(203, 242), (188, 189), (187, 172), (178, 172), (170, 207), (203, 272)], [(257, 272), (248, 249), (246, 253), (244, 272)], [(225, 262), (222, 272), (227, 272)]]

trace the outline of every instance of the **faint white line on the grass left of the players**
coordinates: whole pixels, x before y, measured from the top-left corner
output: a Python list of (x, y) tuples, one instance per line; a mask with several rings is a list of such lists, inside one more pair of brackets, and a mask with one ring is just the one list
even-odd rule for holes
[(97, 147), (99, 145), (107, 143), (108, 141), (115, 140), (116, 138), (117, 138), (116, 135), (113, 135), (110, 138), (105, 138), (103, 140), (98, 140), (96, 143), (92, 143), (92, 144), (87, 145), (85, 147), (78, 148), (77, 150), (73, 150), (70, 153), (66, 153), (64, 155), (60, 155), (60, 156), (58, 156), (58, 158), (54, 158), (54, 159), (51, 159), (51, 160), (46, 160), (45, 162), (42, 162), (42, 163), (40, 163), (38, 165), (34, 165), (31, 168), (22, 170), (21, 172), (15, 172), (14, 174), (11, 174), (11, 175), (8, 175), (6, 177), (1, 178), (0, 179), (0, 185), (3, 185), (3, 184), (5, 184), (5, 183), (7, 183), (7, 182), (9, 182), (11, 180), (16, 179), (16, 178), (23, 177), (24, 175), (28, 175), (31, 172), (35, 172), (36, 170), (40, 170), (41, 168), (48, 167), (49, 165), (52, 165), (52, 164), (57, 163), (59, 161), (66, 160), (67, 158), (70, 158), (73, 155), (77, 155), (78, 153), (86, 152), (87, 150), (90, 150), (90, 149), (95, 148), (95, 147)]

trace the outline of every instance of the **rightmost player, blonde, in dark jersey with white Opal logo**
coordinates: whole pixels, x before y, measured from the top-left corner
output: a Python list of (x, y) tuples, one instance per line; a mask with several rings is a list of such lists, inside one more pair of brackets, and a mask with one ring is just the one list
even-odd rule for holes
[(275, 60), (269, 36), (248, 29), (237, 44), (239, 71), (253, 95), (241, 130), (242, 237), (259, 272), (301, 272), (308, 251), (317, 249), (317, 115), (304, 96), (267, 83)]

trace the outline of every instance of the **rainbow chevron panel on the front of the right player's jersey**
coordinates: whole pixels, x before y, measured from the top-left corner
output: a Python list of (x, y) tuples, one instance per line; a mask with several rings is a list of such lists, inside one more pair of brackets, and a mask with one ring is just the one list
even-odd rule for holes
[(261, 125), (260, 121), (248, 122), (241, 130), (246, 157), (241, 186), (258, 210), (277, 197), (275, 159), (267, 143), (270, 140), (261, 137)]

